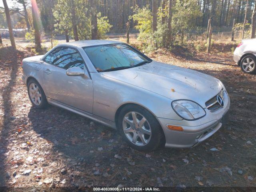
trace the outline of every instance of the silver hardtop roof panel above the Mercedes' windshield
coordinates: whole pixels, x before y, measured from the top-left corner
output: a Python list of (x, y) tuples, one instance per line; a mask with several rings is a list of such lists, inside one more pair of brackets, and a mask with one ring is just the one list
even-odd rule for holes
[(124, 42), (112, 41), (112, 40), (82, 40), (82, 41), (73, 41), (73, 42), (60, 44), (60, 46), (71, 45), (76, 47), (88, 47), (88, 46), (116, 44), (116, 43), (124, 43)]

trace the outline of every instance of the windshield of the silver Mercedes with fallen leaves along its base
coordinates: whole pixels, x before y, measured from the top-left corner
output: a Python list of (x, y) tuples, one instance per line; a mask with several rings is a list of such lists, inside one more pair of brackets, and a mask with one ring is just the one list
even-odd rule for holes
[(122, 70), (151, 62), (142, 53), (126, 44), (107, 44), (84, 47), (98, 72)]

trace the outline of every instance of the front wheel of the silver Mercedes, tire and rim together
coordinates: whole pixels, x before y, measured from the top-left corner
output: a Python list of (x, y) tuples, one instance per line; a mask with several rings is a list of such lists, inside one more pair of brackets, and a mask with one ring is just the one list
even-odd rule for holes
[[(137, 120), (135, 124), (133, 123), (134, 114)], [(144, 123), (140, 126), (142, 122)], [(165, 144), (164, 133), (159, 122), (141, 106), (134, 104), (124, 106), (118, 116), (117, 125), (122, 138), (130, 147), (138, 151), (152, 151), (162, 146), (163, 142)]]

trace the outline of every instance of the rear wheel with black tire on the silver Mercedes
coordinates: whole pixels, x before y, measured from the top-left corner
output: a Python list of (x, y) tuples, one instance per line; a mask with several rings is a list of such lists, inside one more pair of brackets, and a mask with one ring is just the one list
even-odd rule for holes
[(35, 79), (29, 80), (27, 88), (28, 97), (34, 107), (38, 109), (44, 109), (48, 106), (44, 90)]

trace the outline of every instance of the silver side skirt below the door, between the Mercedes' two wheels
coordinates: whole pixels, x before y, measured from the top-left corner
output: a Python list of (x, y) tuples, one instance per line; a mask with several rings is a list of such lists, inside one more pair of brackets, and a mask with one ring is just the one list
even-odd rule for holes
[(96, 121), (96, 122), (99, 122), (99, 123), (101, 123), (101, 124), (104, 124), (104, 125), (106, 125), (106, 126), (108, 126), (108, 127), (110, 127), (110, 128), (116, 129), (116, 123), (113, 122), (113, 121), (110, 121), (110, 120), (108, 120), (108, 119), (99, 117), (99, 116), (97, 116), (97, 115), (94, 115), (94, 114), (85, 112), (85, 111), (80, 110), (80, 109), (78, 109), (78, 108), (74, 108), (74, 107), (72, 107), (72, 106), (66, 105), (66, 104), (64, 104), (64, 103), (62, 103), (62, 102), (58, 102), (58, 101), (53, 100), (53, 99), (51, 99), (51, 98), (47, 98), (47, 101), (48, 101), (49, 104), (52, 104), (52, 105), (54, 105), (54, 106), (58, 106), (58, 107), (60, 107), (60, 108), (64, 108), (64, 109), (66, 109), (66, 110), (68, 110), (68, 111), (74, 112), (74, 113), (76, 113), (76, 114), (82, 115), (82, 116), (84, 116), (84, 117), (86, 117), (86, 118), (89, 118), (89, 119), (91, 119), (91, 120), (94, 120), (94, 121)]

